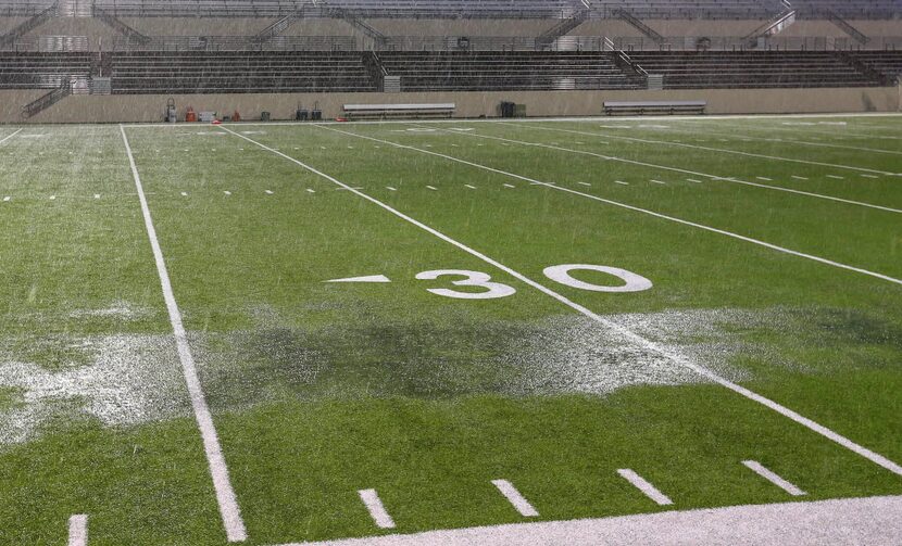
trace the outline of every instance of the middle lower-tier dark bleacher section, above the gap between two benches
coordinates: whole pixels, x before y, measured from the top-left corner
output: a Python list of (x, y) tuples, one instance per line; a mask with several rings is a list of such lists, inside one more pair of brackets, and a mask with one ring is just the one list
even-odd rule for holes
[(381, 52), (403, 91), (635, 89), (640, 80), (600, 52)]

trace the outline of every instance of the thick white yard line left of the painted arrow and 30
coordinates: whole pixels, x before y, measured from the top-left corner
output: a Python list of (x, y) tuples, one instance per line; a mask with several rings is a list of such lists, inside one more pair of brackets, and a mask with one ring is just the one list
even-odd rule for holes
[(145, 190), (141, 186), (141, 177), (138, 174), (138, 166), (135, 164), (135, 156), (131, 154), (131, 145), (125, 135), (125, 128), (120, 125), (122, 140), (125, 142), (125, 151), (128, 153), (128, 164), (131, 166), (131, 175), (135, 178), (135, 187), (138, 189), (138, 200), (141, 203), (141, 213), (145, 217), (145, 227), (150, 239), (150, 246), (153, 250), (153, 258), (156, 262), (156, 272), (160, 276), (160, 284), (163, 288), (163, 299), (166, 301), (166, 310), (170, 314), (176, 346), (178, 347), (178, 359), (181, 361), (181, 371), (185, 374), (185, 383), (188, 385), (188, 393), (191, 398), (191, 407), (195, 410), (195, 419), (198, 422), (201, 437), (203, 439), (203, 450), (206, 453), (206, 461), (210, 465), (210, 474), (213, 478), (213, 487), (216, 491), (216, 500), (220, 505), (220, 515), (223, 519), (228, 542), (243, 542), (248, 538), (245, 530), (245, 522), (241, 520), (241, 510), (238, 508), (238, 500), (231, 482), (228, 478), (223, 449), (220, 446), (220, 439), (216, 435), (216, 427), (213, 424), (213, 417), (206, 406), (206, 398), (203, 395), (203, 388), (198, 378), (198, 370), (195, 366), (195, 357), (191, 355), (191, 347), (188, 345), (188, 338), (181, 322), (181, 312), (173, 294), (170, 274), (166, 270), (166, 263), (163, 259), (163, 251), (156, 240), (156, 230), (153, 227), (153, 219), (150, 216), (150, 206), (147, 204)]

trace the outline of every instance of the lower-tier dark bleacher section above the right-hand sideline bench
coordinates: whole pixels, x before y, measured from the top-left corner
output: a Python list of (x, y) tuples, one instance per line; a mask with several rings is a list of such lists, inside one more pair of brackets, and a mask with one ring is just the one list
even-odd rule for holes
[(649, 74), (664, 76), (665, 89), (728, 89), (879, 86), (832, 52), (632, 52)]

